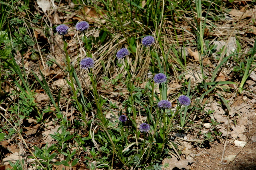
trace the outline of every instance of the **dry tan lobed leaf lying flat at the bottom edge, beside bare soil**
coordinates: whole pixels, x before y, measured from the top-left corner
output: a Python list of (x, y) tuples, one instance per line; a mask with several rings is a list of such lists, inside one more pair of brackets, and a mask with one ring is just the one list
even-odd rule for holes
[(189, 169), (190, 166), (188, 166), (188, 164), (194, 163), (196, 161), (194, 161), (193, 159), (185, 159), (185, 160), (179, 160), (175, 157), (175, 158), (165, 158), (162, 162), (162, 164), (169, 164), (169, 166), (167, 168), (163, 168), (163, 170), (172, 170), (173, 168), (185, 168), (185, 169)]

